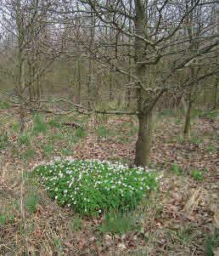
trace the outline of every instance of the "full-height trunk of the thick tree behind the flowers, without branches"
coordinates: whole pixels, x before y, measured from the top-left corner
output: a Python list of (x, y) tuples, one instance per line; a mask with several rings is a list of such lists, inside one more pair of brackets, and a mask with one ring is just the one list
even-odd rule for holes
[[(147, 33), (147, 28), (145, 28), (145, 10), (143, 1), (135, 1), (135, 31), (140, 37), (145, 37)], [(145, 77), (146, 65), (142, 65), (141, 62), (145, 59), (145, 48), (147, 45), (139, 37), (135, 37), (135, 58), (134, 62), (136, 65), (136, 76), (139, 81), (143, 82)], [(137, 89), (137, 105), (138, 105), (138, 140), (136, 143), (136, 156), (135, 164), (137, 166), (147, 166), (149, 165), (149, 155), (151, 150), (151, 140), (152, 140), (152, 110), (146, 105), (149, 95), (141, 88), (140, 82), (138, 82)]]

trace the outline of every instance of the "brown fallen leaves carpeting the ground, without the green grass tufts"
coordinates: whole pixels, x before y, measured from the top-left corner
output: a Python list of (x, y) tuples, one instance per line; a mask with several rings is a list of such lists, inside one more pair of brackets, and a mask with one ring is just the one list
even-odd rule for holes
[[(70, 223), (76, 216), (74, 211), (59, 208), (37, 185), (40, 201), (35, 213), (25, 210), (24, 225), (20, 216), (20, 172), (44, 159), (38, 150), (34, 158), (22, 161), (20, 154), (14, 154), (17, 135), (11, 132), (11, 145), (0, 154), (0, 213), (7, 212), (13, 219), (0, 225), (0, 253), (21, 255), (25, 250), (39, 255), (54, 252), (61, 255), (203, 255), (205, 235), (219, 224), (217, 151), (207, 150), (209, 144), (218, 149), (218, 122), (195, 120), (195, 136), (202, 140), (185, 142), (179, 135), (182, 134), (182, 124), (174, 121), (174, 117), (161, 120), (154, 130), (151, 162), (165, 170), (160, 193), (151, 195), (148, 202), (139, 207), (136, 214), (141, 215), (141, 229), (122, 236), (98, 232), (98, 226), (104, 223), (103, 216), (82, 218), (81, 230), (70, 230)], [(7, 128), (10, 127), (8, 122)], [(72, 145), (73, 157), (132, 164), (137, 135), (130, 129), (134, 125), (129, 117), (113, 117), (104, 126), (114, 133), (102, 138), (95, 133), (97, 123), (87, 122), (89, 133), (82, 142)], [(53, 132), (58, 131), (53, 128)], [(36, 139), (42, 141), (45, 138), (39, 134)], [(60, 140), (57, 144), (64, 146), (65, 141)], [(182, 175), (172, 174), (172, 163), (182, 168)], [(190, 176), (193, 168), (205, 170), (203, 181), (197, 182)], [(30, 186), (25, 183), (26, 193), (32, 189)]]

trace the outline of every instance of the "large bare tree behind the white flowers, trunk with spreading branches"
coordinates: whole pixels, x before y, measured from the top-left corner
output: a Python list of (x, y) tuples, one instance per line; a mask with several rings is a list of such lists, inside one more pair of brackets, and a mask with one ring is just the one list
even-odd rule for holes
[[(202, 61), (206, 58), (204, 58), (206, 54), (216, 48), (216, 37), (211, 37), (208, 33), (211, 26), (216, 26), (216, 23), (208, 23), (205, 20), (211, 15), (209, 9), (214, 3), (209, 5), (206, 1), (197, 0), (188, 6), (188, 1), (184, 3), (168, 0), (159, 3), (136, 0), (132, 4), (126, 1), (111, 1), (110, 4), (91, 0), (80, 2), (81, 17), (84, 13), (86, 15), (94, 13), (98, 20), (96, 23), (98, 31), (103, 27), (110, 27), (114, 31), (113, 43), (112, 40), (106, 43), (99, 32), (93, 46), (87, 45), (86, 39), (82, 40), (83, 38), (81, 44), (103, 67), (107, 66), (111, 71), (129, 77), (129, 84), (133, 81), (132, 88), (137, 90), (137, 109), (134, 111), (139, 122), (135, 163), (148, 165), (153, 111), (161, 95), (169, 90), (190, 88), (194, 83), (216, 72), (215, 69), (205, 69), (204, 66), (204, 74), (199, 71), (196, 77), (182, 75), (186, 66)], [(196, 33), (196, 49), (193, 50), (191, 34), (185, 36), (183, 31), (188, 19), (191, 19), (200, 5), (207, 6), (205, 12), (204, 10), (201, 12), (205, 26), (199, 34)], [(78, 26), (81, 26), (82, 31), (83, 24)], [(133, 65), (124, 64), (124, 60), (127, 60), (127, 63), (131, 57), (134, 60)], [(130, 72), (132, 68), (135, 69), (134, 74)]]

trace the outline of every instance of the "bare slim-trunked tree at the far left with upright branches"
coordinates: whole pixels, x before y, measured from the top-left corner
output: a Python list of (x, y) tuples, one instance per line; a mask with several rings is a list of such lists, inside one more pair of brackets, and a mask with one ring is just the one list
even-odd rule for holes
[(53, 28), (48, 27), (51, 4), (38, 0), (0, 3), (2, 28), (14, 39), (14, 57), (9, 60), (16, 66), (4, 70), (13, 74), (14, 91), (20, 100), (20, 132), (25, 128), (25, 109), (40, 107), (43, 74), (62, 50), (62, 34), (54, 37)]

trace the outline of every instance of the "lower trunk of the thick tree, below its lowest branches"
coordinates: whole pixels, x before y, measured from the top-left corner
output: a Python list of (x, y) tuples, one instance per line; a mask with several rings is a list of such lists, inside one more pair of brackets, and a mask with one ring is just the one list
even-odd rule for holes
[(136, 143), (135, 164), (148, 166), (152, 141), (152, 111), (144, 115), (138, 115), (138, 140)]

